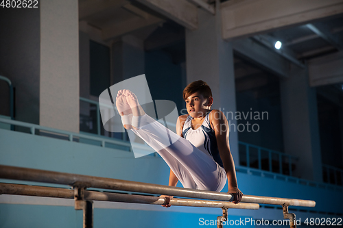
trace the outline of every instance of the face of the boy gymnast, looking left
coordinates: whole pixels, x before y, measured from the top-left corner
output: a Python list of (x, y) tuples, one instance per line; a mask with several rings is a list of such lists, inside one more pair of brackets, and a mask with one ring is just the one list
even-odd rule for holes
[(199, 92), (195, 92), (187, 97), (185, 101), (188, 114), (193, 118), (197, 118), (204, 116), (206, 110), (209, 110), (212, 104), (212, 97), (206, 99)]

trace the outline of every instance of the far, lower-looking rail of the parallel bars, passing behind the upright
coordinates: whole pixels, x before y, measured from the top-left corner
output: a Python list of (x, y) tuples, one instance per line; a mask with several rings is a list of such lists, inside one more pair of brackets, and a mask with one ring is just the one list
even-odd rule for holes
[[(74, 199), (74, 190), (65, 188), (51, 188), (43, 186), (27, 186), (14, 183), (0, 183), (0, 194), (17, 194), (33, 197), (54, 197), (64, 199)], [(165, 199), (163, 197), (151, 197), (151, 196), (139, 196), (132, 194), (121, 194), (115, 192), (96, 192), (96, 191), (84, 191), (85, 200), (94, 201), (112, 201), (112, 202), (125, 202), (125, 203), (143, 203), (152, 205), (165, 205)], [(238, 203), (226, 201), (206, 201), (206, 200), (194, 200), (194, 199), (171, 199), (171, 205), (175, 206), (188, 206), (188, 207), (226, 207), (236, 209), (259, 209), (257, 203)]]

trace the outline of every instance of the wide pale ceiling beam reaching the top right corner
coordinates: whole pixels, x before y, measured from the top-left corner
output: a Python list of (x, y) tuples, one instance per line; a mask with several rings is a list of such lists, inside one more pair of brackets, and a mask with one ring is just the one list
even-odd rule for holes
[(342, 0), (230, 0), (221, 3), (222, 36), (234, 40), (342, 13)]

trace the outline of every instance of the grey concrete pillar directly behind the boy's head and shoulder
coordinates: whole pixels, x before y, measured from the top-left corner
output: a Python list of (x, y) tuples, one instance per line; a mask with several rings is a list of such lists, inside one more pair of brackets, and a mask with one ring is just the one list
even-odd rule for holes
[(187, 84), (201, 79), (211, 87), (212, 108), (222, 110), (229, 117), (230, 151), (238, 165), (237, 121), (228, 114), (236, 112), (233, 48), (222, 39), (219, 10), (215, 16), (204, 10), (198, 10), (198, 14), (198, 29), (186, 29)]

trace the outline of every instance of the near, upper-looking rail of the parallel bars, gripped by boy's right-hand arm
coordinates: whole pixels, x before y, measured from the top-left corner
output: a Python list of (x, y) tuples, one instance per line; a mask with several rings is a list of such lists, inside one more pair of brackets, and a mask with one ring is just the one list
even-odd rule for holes
[[(22, 181), (38, 181), (44, 183), (59, 183), (69, 186), (83, 186), (84, 188), (104, 188), (111, 190), (123, 190), (132, 192), (145, 192), (150, 194), (167, 194), (178, 197), (190, 197), (200, 199), (211, 199), (219, 201), (233, 201), (233, 194), (225, 192), (212, 192), (207, 190), (193, 190), (190, 188), (178, 188), (162, 186), (153, 183), (141, 183), (136, 181), (125, 181), (120, 179), (110, 179), (105, 177), (93, 177), (87, 175), (76, 175), (70, 173), (60, 173), (34, 168), (21, 168), (14, 166), (0, 165), (0, 178), (16, 179)], [(303, 207), (314, 207), (315, 201), (300, 199), (283, 199), (276, 197), (258, 197), (244, 195), (241, 202), (245, 203), (265, 203), (273, 205), (294, 205)]]

